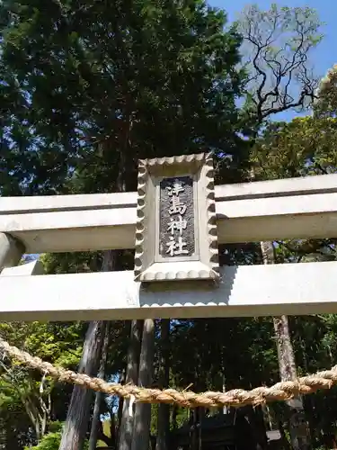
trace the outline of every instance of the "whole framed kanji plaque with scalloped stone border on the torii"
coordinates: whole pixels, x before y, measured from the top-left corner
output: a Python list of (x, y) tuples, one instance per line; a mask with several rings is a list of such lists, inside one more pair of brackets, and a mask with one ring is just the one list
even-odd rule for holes
[(186, 155), (138, 164), (135, 279), (217, 279), (213, 159)]

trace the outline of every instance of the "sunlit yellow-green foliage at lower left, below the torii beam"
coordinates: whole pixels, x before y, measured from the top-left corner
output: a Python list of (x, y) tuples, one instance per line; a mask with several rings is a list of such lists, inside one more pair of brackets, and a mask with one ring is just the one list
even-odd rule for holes
[[(0, 335), (31, 355), (75, 368), (82, 352), (84, 324), (3, 322), (0, 324)], [(22, 426), (26, 428), (26, 433), (33, 430), (34, 438), (31, 432), (28, 435), (30, 443), (43, 437), (51, 410), (55, 410), (55, 418), (65, 419), (66, 411), (59, 410), (59, 407), (64, 408), (65, 401), (67, 404), (68, 392), (68, 387), (65, 389), (49, 378), (42, 382), (40, 373), (15, 361), (4, 358), (0, 363), (0, 418), (16, 411), (21, 422), (18, 426), (15, 420), (10, 419), (8, 432), (15, 435)]]

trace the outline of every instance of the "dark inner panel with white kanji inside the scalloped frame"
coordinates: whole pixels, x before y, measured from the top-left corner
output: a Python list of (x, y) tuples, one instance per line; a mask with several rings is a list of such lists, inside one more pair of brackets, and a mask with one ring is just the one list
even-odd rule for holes
[(164, 178), (159, 199), (159, 255), (188, 259), (195, 252), (193, 179)]

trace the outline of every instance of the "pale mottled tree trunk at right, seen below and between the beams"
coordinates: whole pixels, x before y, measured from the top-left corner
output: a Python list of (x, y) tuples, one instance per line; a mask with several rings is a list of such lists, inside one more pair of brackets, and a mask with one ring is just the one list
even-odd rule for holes
[[(263, 264), (275, 264), (275, 249), (272, 242), (261, 243)], [(276, 345), (279, 357), (279, 376), (282, 382), (296, 380), (297, 370), (294, 349), (291, 344), (288, 317), (274, 317)], [(287, 401), (291, 446), (294, 450), (311, 448), (310, 434), (306, 423), (302, 397)]]

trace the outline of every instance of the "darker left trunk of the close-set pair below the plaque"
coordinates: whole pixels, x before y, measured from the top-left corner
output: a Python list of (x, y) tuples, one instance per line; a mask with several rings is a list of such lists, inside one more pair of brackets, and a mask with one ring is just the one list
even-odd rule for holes
[[(143, 324), (144, 320), (132, 320), (131, 322), (128, 365), (125, 377), (126, 383), (137, 384), (140, 342), (143, 331)], [(119, 450), (131, 449), (134, 417), (133, 414), (129, 414), (129, 405), (130, 400), (124, 399), (122, 417), (120, 420)]]

